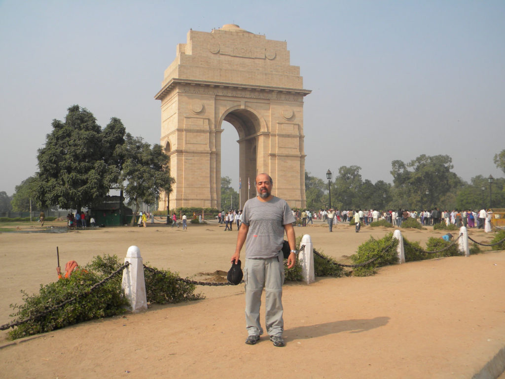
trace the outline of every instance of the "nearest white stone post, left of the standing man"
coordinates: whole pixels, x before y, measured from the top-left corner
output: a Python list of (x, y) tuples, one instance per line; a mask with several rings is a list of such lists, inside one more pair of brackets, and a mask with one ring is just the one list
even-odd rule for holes
[(147, 309), (145, 296), (144, 265), (137, 246), (130, 246), (126, 253), (125, 263), (130, 265), (123, 270), (121, 288), (130, 302), (131, 311), (139, 312)]

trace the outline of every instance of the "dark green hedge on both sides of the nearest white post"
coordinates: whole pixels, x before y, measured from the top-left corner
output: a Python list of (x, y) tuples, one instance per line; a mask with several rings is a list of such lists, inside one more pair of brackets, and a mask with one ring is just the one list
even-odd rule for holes
[[(93, 258), (83, 270), (74, 272), (68, 279), (60, 279), (40, 286), (38, 294), (23, 293), (24, 304), (11, 305), (17, 312), (11, 314), (13, 321), (24, 320), (32, 315), (61, 304), (76, 295), (83, 294), (96, 282), (103, 280), (123, 265), (116, 255), (103, 255)], [(168, 270), (151, 273), (144, 270), (145, 289), (149, 303), (177, 303), (185, 300), (203, 299), (195, 294), (195, 285), (177, 280), (178, 274)], [(121, 289), (122, 275), (119, 273), (91, 294), (66, 304), (45, 316), (23, 323), (9, 331), (9, 338), (18, 339), (73, 325), (78, 322), (102, 317), (110, 317), (125, 312), (128, 301)]]

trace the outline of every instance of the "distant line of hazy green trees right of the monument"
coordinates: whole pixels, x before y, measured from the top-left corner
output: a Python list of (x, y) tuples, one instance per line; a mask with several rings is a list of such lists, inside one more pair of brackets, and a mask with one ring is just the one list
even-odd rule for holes
[[(494, 162), (505, 173), (505, 150)], [(330, 182), (331, 207), (336, 209), (481, 209), (505, 207), (505, 179), (477, 175), (470, 183), (452, 172), (448, 155), (420, 155), (404, 163), (391, 162), (393, 183), (363, 180), (359, 166), (342, 166)], [(489, 186), (491, 188), (491, 194)], [(307, 208), (329, 207), (328, 182), (305, 173)]]

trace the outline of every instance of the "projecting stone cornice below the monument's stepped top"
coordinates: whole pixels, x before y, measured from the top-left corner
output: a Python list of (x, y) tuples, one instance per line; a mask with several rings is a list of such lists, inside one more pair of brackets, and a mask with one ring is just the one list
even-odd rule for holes
[(248, 91), (262, 91), (262, 92), (279, 92), (286, 94), (297, 94), (302, 97), (307, 96), (312, 92), (310, 89), (303, 88), (288, 88), (288, 87), (275, 87), (266, 85), (254, 85), (254, 84), (237, 84), (237, 83), (225, 83), (225, 82), (214, 82), (207, 80), (191, 80), (191, 79), (179, 79), (172, 78), (167, 84), (163, 86), (162, 89), (156, 94), (155, 100), (163, 100), (165, 96), (175, 87), (179, 85), (190, 85), (190, 86), (200, 86), (206, 88), (227, 88), (235, 90), (248, 90)]

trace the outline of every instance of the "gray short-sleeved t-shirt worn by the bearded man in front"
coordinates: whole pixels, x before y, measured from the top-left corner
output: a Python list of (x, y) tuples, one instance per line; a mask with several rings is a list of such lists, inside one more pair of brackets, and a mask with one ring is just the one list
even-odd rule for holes
[(289, 205), (273, 197), (268, 202), (249, 199), (243, 209), (243, 223), (249, 226), (245, 240), (246, 258), (273, 258), (284, 241), (284, 225), (295, 221)]

